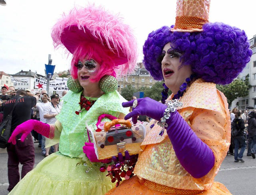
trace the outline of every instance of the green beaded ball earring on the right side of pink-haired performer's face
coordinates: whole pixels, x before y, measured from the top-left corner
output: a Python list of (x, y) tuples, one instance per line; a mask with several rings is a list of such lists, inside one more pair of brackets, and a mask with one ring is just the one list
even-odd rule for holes
[(104, 93), (112, 93), (117, 90), (118, 82), (115, 77), (111, 75), (105, 75), (100, 79), (100, 89)]

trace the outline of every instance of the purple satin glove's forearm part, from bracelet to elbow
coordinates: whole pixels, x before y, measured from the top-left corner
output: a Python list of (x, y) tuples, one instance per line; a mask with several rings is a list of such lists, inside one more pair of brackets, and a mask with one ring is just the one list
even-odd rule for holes
[(203, 177), (214, 166), (215, 157), (211, 148), (198, 138), (177, 111), (170, 114), (171, 117), (166, 120), (166, 132), (180, 164), (192, 177)]

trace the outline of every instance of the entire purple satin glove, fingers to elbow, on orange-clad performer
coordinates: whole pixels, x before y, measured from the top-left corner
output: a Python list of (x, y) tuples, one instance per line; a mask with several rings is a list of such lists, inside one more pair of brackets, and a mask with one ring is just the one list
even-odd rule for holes
[[(164, 116), (164, 110), (167, 108), (165, 104), (148, 97), (137, 100), (137, 106), (124, 117), (125, 120), (132, 117), (132, 122), (135, 123), (138, 115), (146, 115), (161, 121)], [(134, 100), (123, 102), (122, 106), (132, 106), (133, 102)], [(170, 115), (170, 118), (166, 120), (168, 124), (166, 132), (180, 164), (192, 177), (203, 177), (214, 166), (215, 158), (212, 150), (196, 136), (177, 111), (170, 112)]]

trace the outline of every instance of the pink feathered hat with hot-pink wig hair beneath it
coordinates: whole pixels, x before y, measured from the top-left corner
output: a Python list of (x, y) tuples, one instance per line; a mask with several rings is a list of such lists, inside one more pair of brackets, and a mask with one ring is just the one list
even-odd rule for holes
[(132, 29), (118, 15), (106, 12), (101, 6), (73, 8), (52, 28), (54, 47), (66, 47), (73, 54), (71, 75), (77, 79), (78, 60), (94, 59), (101, 67), (92, 82), (104, 75), (126, 75), (134, 70), (138, 55)]

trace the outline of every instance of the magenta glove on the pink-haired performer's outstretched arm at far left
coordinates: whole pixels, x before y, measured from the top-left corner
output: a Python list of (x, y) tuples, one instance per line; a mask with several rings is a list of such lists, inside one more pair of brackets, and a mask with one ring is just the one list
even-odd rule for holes
[(39, 120), (27, 120), (23, 122), (22, 124), (18, 125), (14, 131), (12, 132), (12, 135), (10, 136), (8, 143), (12, 142), (12, 144), (16, 144), (16, 136), (18, 134), (22, 134), (20, 137), (20, 141), (24, 142), (28, 134), (32, 130), (35, 130), (36, 132), (42, 134), (43, 136), (46, 136), (47, 138), (53, 138), (54, 137), (54, 130), (50, 132), (50, 125), (40, 122)]

